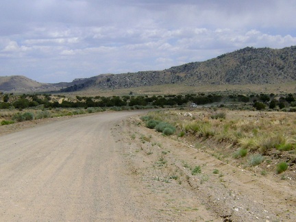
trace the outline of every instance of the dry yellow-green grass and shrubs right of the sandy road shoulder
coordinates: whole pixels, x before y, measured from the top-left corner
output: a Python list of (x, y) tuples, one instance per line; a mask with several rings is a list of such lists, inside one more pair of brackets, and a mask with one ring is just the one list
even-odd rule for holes
[(280, 174), (295, 167), (296, 115), (293, 112), (229, 108), (158, 110), (141, 119), (146, 127), (157, 132), (158, 125), (165, 123), (175, 129), (165, 135), (187, 141), (196, 149), (245, 169), (259, 167), (261, 171)]

